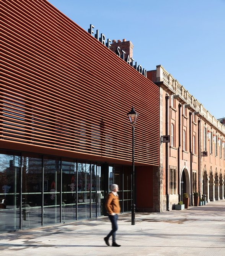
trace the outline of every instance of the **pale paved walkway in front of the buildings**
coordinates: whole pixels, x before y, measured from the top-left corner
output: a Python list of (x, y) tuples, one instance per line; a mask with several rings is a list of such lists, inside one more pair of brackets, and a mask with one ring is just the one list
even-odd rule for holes
[(117, 243), (106, 246), (108, 217), (0, 234), (2, 255), (225, 256), (225, 200), (164, 213), (119, 216)]

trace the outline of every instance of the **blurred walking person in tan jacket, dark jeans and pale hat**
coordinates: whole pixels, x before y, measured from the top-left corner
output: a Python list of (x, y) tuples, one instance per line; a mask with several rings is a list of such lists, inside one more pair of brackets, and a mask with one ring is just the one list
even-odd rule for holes
[(119, 187), (116, 184), (112, 184), (110, 189), (112, 191), (108, 194), (105, 207), (109, 214), (109, 220), (112, 223), (112, 230), (104, 238), (104, 241), (106, 242), (106, 245), (109, 246), (109, 237), (112, 236), (112, 246), (119, 247), (121, 245), (117, 245), (116, 243), (116, 230), (118, 229), (117, 220), (118, 214), (120, 213), (119, 196), (117, 194)]

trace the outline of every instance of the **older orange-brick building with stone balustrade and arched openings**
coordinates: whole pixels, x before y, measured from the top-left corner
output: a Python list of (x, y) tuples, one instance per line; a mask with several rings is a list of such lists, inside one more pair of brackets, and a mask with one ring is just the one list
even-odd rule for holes
[(147, 77), (160, 88), (161, 210), (189, 194), (206, 195), (207, 201), (224, 199), (225, 127), (161, 65)]

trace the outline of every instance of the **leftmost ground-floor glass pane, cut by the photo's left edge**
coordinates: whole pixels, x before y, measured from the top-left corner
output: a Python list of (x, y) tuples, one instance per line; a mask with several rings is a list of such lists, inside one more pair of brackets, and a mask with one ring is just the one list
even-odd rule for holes
[(20, 228), (20, 156), (0, 154), (0, 231)]

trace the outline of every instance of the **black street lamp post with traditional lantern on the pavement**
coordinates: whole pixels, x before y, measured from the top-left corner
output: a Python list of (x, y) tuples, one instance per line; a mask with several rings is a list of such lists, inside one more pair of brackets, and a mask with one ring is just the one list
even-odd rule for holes
[(131, 204), (131, 225), (135, 225), (135, 190), (134, 190), (134, 126), (136, 124), (139, 113), (132, 107), (131, 111), (127, 113), (130, 123), (132, 125), (132, 204)]

